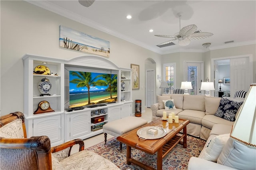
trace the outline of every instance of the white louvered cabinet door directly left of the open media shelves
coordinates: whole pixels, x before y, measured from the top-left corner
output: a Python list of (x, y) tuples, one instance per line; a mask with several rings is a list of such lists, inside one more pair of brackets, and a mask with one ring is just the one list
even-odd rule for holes
[(70, 115), (70, 139), (90, 133), (90, 112)]

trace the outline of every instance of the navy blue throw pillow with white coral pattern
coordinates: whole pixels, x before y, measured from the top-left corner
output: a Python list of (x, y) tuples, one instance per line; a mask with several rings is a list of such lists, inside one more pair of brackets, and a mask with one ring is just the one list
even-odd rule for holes
[(214, 115), (228, 121), (235, 121), (236, 113), (243, 103), (244, 102), (235, 102), (226, 98), (222, 98), (220, 100), (220, 105)]

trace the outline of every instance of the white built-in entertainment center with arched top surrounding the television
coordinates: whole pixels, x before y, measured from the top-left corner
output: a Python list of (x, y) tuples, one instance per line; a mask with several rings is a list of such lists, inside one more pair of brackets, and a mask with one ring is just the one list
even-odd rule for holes
[[(56, 146), (72, 139), (86, 139), (98, 135), (102, 133), (100, 126), (103, 123), (132, 115), (132, 70), (130, 68), (119, 68), (104, 57), (92, 55), (62, 60), (26, 54), (22, 59), (24, 60), (24, 115), (28, 137), (46, 135), (50, 138), (51, 145)], [(38, 65), (46, 66), (53, 74), (34, 73)], [(105, 106), (65, 111), (68, 100), (67, 90), (69, 90), (66, 86), (69, 79), (65, 78), (65, 67), (104, 70), (117, 74), (117, 102)], [(121, 78), (121, 75), (125, 78)], [(38, 83), (43, 78), (51, 82), (51, 95), (40, 96)], [(121, 80), (125, 82), (125, 88), (122, 91)], [(47, 101), (54, 111), (34, 114), (41, 101)], [(95, 111), (99, 114), (94, 114)], [(93, 123), (93, 119), (104, 121)]]

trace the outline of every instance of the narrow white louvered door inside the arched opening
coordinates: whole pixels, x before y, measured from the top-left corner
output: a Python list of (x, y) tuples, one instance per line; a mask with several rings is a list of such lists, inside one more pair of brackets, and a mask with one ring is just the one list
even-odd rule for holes
[(147, 70), (147, 77), (146, 77), (146, 106), (151, 107), (154, 104), (154, 70)]

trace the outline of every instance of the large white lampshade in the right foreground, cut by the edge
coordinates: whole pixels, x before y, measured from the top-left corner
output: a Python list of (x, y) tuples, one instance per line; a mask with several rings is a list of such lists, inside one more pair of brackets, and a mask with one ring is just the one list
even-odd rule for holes
[(230, 137), (249, 148), (256, 149), (256, 83), (250, 85), (244, 104), (236, 113)]

